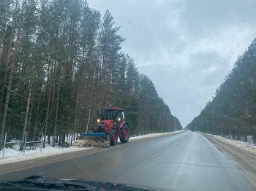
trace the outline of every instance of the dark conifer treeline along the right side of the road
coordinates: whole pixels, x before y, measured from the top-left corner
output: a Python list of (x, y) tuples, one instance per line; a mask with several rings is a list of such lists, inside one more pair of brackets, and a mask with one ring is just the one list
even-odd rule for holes
[(187, 128), (247, 141), (256, 139), (256, 39)]

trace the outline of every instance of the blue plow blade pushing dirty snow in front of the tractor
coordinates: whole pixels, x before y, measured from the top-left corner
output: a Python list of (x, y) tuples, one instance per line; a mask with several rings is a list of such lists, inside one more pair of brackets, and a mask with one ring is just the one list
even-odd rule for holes
[(110, 147), (110, 138), (106, 133), (81, 133), (77, 136), (75, 147)]

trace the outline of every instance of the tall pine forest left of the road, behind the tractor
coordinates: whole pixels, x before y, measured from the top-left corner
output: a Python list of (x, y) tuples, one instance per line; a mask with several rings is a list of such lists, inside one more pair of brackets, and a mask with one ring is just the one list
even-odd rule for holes
[(181, 129), (118, 30), (85, 0), (0, 1), (0, 149), (5, 132), (86, 132), (109, 106), (127, 111), (131, 129)]

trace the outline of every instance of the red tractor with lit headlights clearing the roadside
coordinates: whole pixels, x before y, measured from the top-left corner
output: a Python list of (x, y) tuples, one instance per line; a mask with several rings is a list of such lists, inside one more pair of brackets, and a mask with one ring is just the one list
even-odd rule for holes
[(100, 119), (97, 120), (98, 123), (95, 129), (91, 129), (90, 133), (81, 133), (83, 139), (89, 136), (94, 137), (95, 141), (98, 141), (98, 138), (101, 137), (110, 145), (116, 145), (118, 137), (121, 143), (129, 141), (129, 126), (124, 117), (124, 109), (102, 109), (102, 112), (99, 112), (99, 116)]

